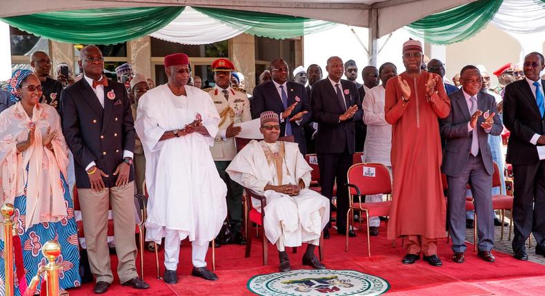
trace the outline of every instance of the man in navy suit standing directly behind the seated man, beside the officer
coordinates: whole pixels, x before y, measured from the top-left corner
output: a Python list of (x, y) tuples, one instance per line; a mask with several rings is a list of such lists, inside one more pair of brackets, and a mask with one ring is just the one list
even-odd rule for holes
[(303, 126), (310, 120), (310, 103), (305, 86), (288, 81), (289, 68), (283, 59), (270, 62), (273, 81), (257, 85), (252, 100), (252, 118), (259, 118), (262, 112), (276, 112), (280, 118), (280, 135), (291, 136), (299, 144), (301, 154), (306, 154), (305, 131)]

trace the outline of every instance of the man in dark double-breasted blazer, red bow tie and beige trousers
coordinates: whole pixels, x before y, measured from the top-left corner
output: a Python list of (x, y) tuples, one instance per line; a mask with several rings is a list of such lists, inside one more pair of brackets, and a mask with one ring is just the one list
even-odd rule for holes
[(135, 259), (135, 128), (125, 85), (103, 76), (104, 58), (88, 45), (79, 54), (85, 74), (62, 92), (63, 134), (74, 154), (76, 186), (95, 293), (106, 293), (110, 268), (108, 204), (114, 213), (115, 244), (121, 284), (149, 288), (138, 277)]

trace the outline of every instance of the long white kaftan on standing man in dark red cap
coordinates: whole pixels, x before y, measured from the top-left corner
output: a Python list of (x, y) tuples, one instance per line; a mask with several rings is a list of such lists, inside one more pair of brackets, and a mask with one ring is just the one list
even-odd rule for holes
[(175, 96), (168, 85), (160, 85), (138, 103), (135, 128), (146, 154), (150, 196), (146, 240), (160, 243), (168, 230), (178, 231), (180, 240), (208, 244), (227, 215), (227, 187), (210, 154), (214, 138), (195, 132), (159, 140), (165, 131), (183, 129), (197, 116), (210, 135), (217, 134), (219, 115), (210, 96), (185, 88), (187, 96)]

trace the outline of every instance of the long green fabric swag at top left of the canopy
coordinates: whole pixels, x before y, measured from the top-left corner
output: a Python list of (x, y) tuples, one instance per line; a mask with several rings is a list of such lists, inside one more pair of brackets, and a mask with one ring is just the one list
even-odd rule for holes
[(106, 45), (151, 34), (168, 25), (184, 8), (72, 10), (6, 17), (2, 20), (13, 27), (56, 41)]

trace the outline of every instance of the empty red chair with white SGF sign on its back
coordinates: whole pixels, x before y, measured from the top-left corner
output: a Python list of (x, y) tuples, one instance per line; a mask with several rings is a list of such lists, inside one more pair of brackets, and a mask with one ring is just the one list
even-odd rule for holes
[[(375, 170), (373, 174), (372, 171)], [(364, 203), (361, 195), (390, 194), (392, 193), (392, 175), (390, 169), (379, 163), (358, 163), (348, 169), (348, 200), (349, 208), (346, 213), (346, 225), (350, 229), (350, 212), (354, 210), (365, 212), (367, 225), (367, 253), (371, 256), (369, 237), (369, 217), (390, 215), (391, 201)], [(353, 195), (357, 195), (354, 202)], [(348, 231), (346, 232), (346, 250), (348, 252)]]

